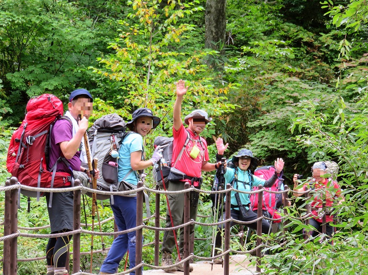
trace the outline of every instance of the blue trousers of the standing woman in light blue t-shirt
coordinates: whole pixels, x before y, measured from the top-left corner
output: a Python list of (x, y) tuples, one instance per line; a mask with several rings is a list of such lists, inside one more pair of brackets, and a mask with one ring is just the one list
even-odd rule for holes
[[(114, 195), (114, 204), (110, 204), (114, 213), (115, 223), (119, 231), (136, 227), (137, 197)], [(119, 235), (114, 241), (103, 262), (100, 271), (117, 273), (119, 264), (129, 249), (129, 268), (136, 266), (136, 231)], [(133, 271), (130, 275), (135, 275)]]

